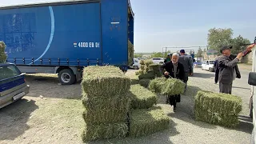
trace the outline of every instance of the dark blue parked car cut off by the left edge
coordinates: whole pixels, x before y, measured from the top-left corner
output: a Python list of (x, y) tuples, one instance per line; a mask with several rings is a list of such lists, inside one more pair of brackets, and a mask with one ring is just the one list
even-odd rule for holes
[(30, 91), (25, 74), (11, 63), (0, 64), (0, 109), (18, 101)]

